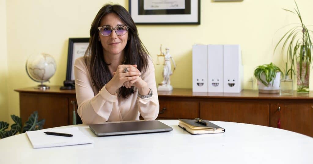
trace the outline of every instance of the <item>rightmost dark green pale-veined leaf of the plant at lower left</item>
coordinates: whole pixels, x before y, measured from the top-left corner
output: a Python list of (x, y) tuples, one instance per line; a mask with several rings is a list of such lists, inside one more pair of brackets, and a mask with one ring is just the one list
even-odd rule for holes
[(23, 133), (26, 131), (33, 131), (33, 130), (39, 130), (43, 128), (45, 119), (38, 121), (38, 111), (34, 111), (33, 114), (31, 114), (28, 117), (28, 120), (25, 122), (25, 125), (23, 127)]

